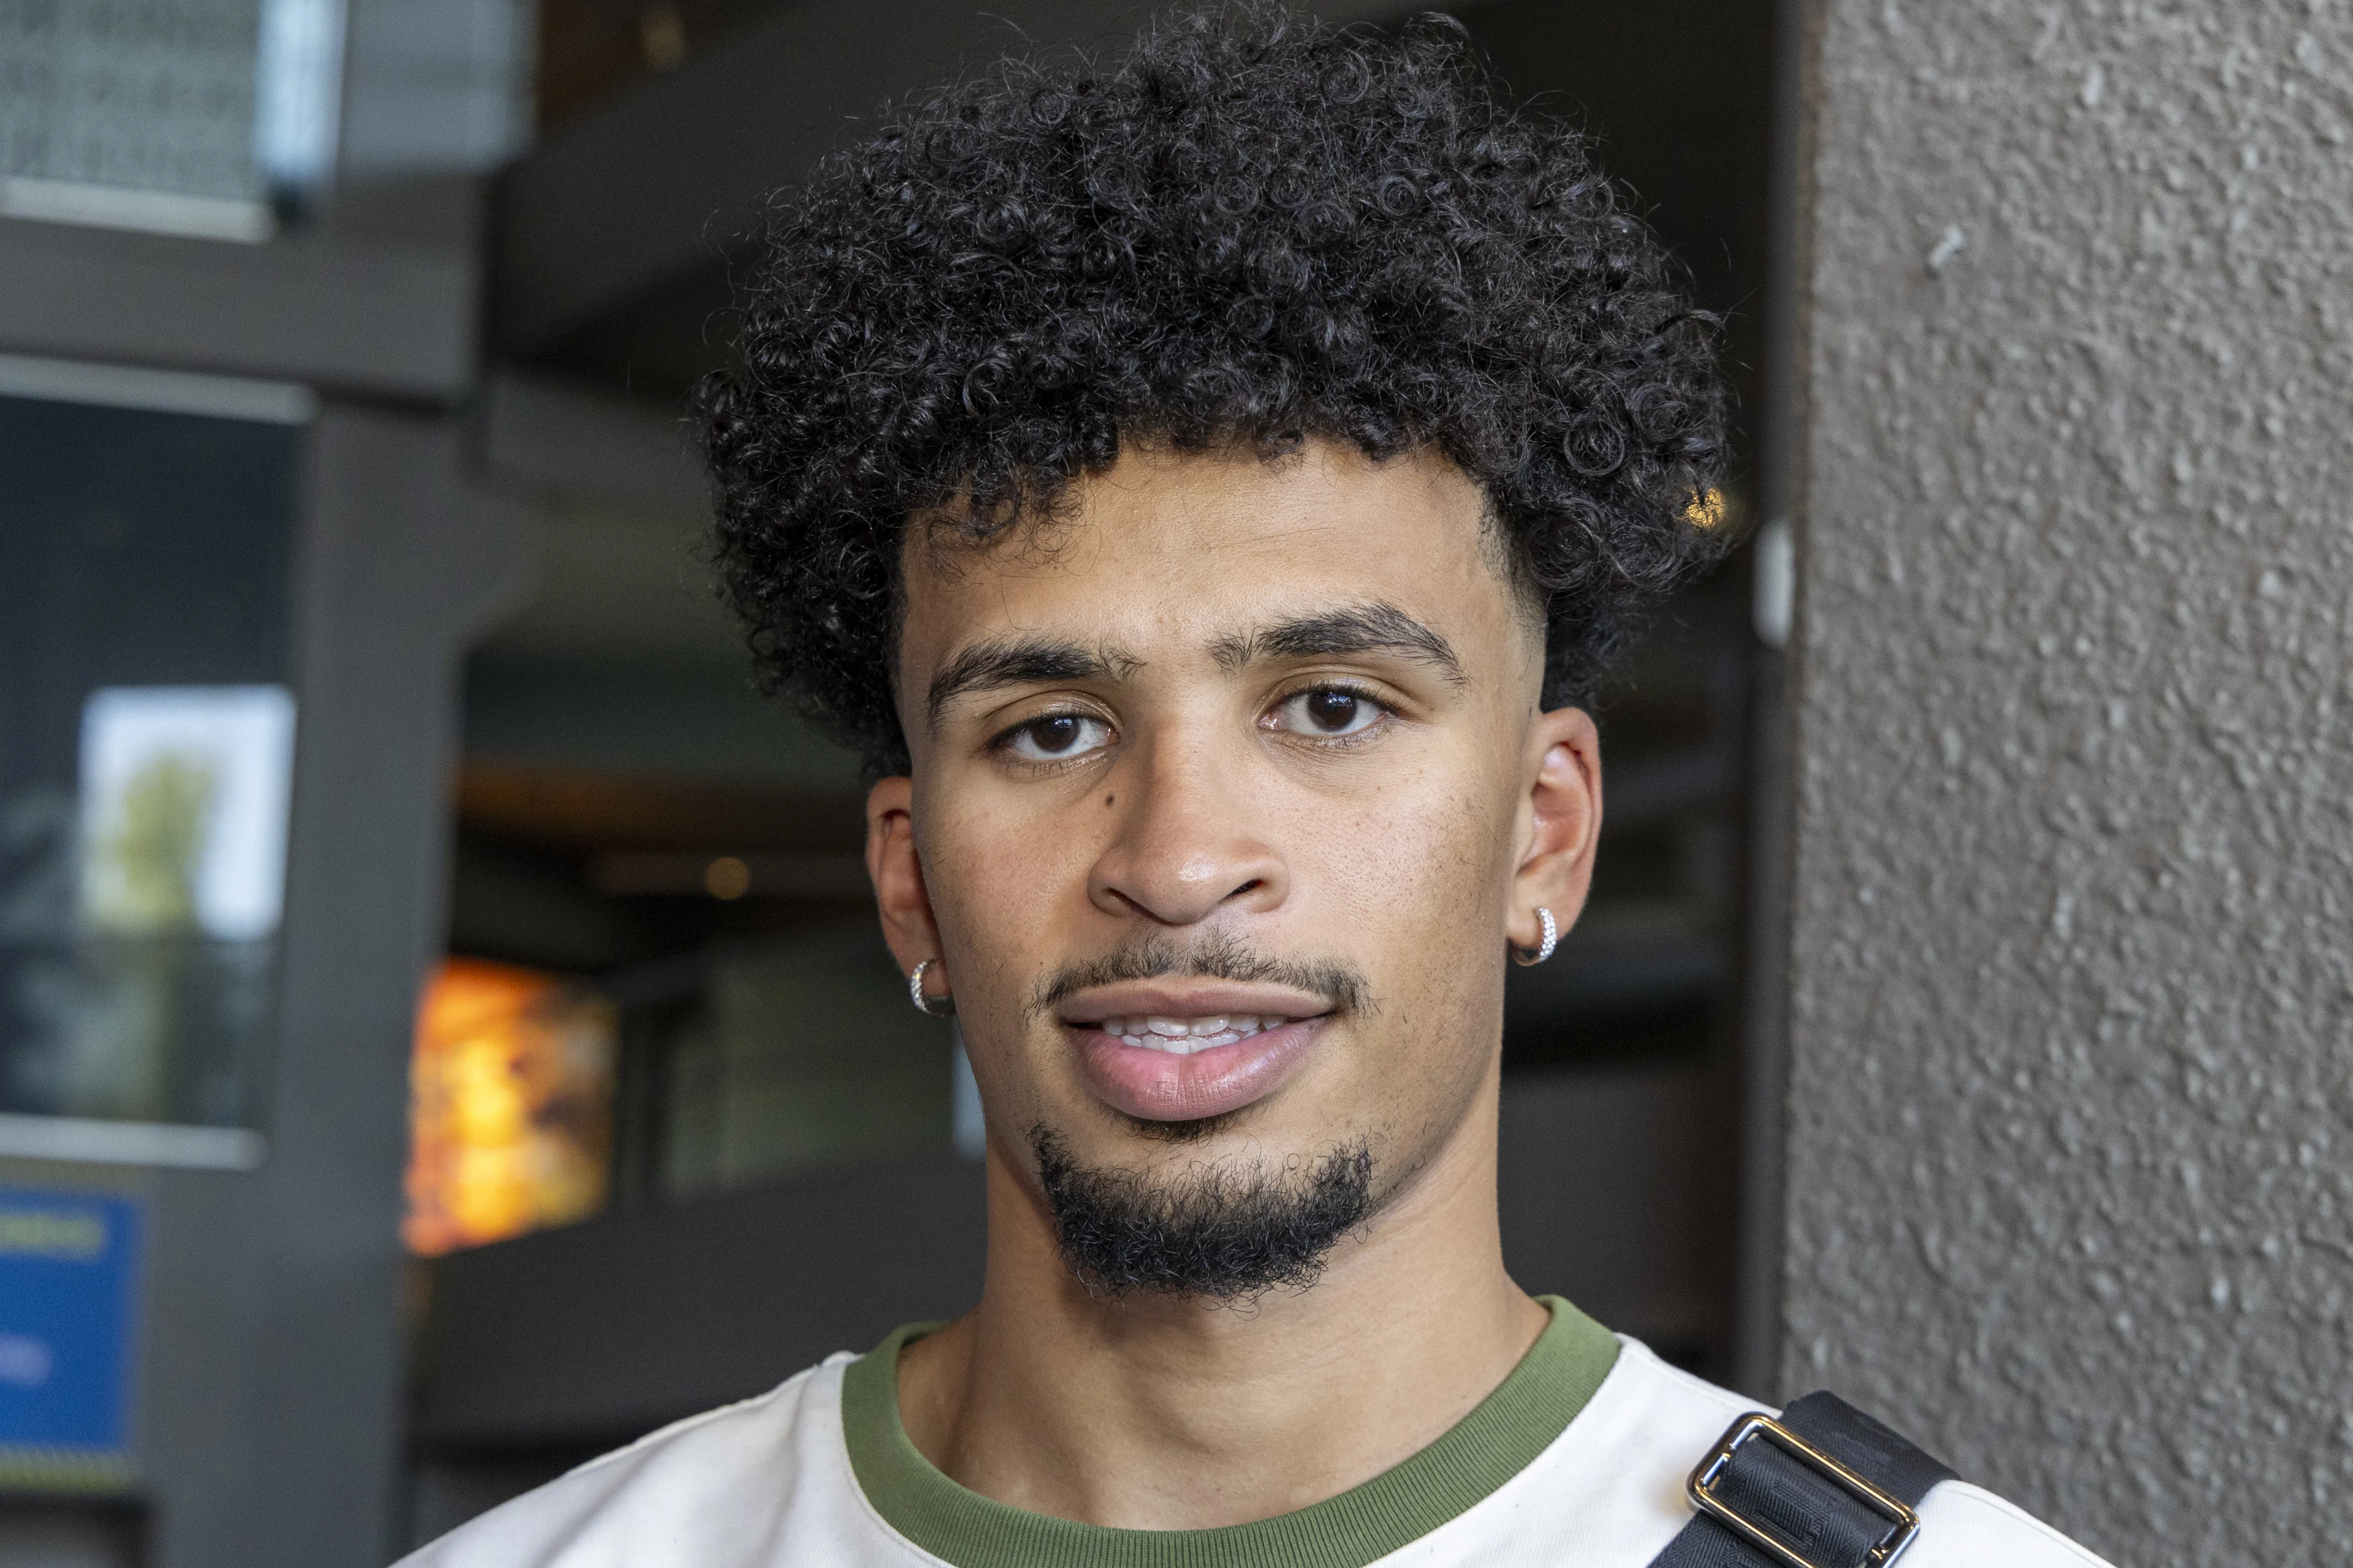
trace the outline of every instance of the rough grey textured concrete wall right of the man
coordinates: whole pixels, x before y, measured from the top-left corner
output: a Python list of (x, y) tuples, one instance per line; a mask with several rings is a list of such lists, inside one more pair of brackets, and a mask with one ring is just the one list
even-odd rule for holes
[(2353, 1552), (2353, 5), (1824, 0), (1784, 1387)]

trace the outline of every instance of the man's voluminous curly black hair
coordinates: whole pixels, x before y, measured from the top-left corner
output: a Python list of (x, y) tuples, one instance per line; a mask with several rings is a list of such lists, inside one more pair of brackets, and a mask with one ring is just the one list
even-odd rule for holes
[(722, 592), (772, 689), (904, 771), (911, 517), (986, 541), (1120, 442), (1435, 449), (1591, 703), (1725, 545), (1715, 317), (1572, 127), (1464, 31), (1245, 2), (1125, 59), (1007, 59), (772, 202), (734, 362), (699, 388)]

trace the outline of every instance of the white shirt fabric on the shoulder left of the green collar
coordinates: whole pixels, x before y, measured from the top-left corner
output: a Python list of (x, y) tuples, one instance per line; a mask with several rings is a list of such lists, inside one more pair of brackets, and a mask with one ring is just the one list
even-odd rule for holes
[(734, 1568), (781, 1533), (856, 1528), (847, 1354), (706, 1410), (459, 1526), (398, 1568)]

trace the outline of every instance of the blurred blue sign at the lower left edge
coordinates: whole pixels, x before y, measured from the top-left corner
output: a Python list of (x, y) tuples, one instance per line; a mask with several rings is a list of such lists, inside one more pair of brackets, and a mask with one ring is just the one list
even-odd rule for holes
[(0, 1187), (0, 1462), (125, 1458), (139, 1204)]

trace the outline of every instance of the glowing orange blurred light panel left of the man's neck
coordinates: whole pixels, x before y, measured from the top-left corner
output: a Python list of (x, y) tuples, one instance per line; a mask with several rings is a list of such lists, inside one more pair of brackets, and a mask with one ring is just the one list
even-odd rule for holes
[(412, 1253), (504, 1241), (605, 1206), (612, 1006), (555, 976), (447, 959), (409, 1058)]

